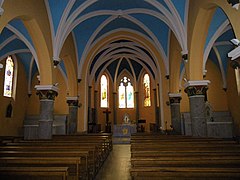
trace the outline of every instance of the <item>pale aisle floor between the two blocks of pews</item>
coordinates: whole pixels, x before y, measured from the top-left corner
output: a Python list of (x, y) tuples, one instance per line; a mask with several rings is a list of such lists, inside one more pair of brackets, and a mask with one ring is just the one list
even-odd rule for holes
[(95, 180), (130, 180), (130, 144), (114, 144)]

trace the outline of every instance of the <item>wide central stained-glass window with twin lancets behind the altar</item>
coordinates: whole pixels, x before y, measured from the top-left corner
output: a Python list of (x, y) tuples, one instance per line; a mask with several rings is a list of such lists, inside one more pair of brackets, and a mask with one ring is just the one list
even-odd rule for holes
[(130, 79), (123, 77), (118, 87), (119, 108), (134, 108), (133, 93), (133, 86)]

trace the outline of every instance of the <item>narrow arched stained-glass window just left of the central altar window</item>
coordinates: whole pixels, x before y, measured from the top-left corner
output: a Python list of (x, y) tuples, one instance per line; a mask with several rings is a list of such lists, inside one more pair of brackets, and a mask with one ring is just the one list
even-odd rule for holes
[(108, 107), (108, 80), (106, 75), (101, 76), (101, 107)]

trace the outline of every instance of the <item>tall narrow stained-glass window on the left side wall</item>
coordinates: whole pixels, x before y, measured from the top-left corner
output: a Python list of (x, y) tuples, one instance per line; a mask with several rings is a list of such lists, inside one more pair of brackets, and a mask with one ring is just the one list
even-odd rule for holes
[(10, 56), (6, 60), (3, 96), (12, 97), (14, 63)]

